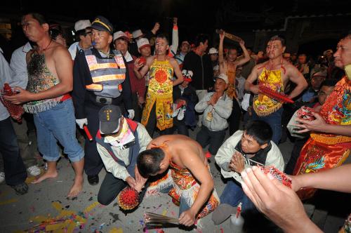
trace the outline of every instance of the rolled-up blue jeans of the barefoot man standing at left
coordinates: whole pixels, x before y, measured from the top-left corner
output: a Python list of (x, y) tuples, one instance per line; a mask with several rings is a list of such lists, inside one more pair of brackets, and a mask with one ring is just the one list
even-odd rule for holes
[(72, 162), (84, 157), (83, 148), (76, 138), (76, 122), (72, 99), (58, 103), (55, 107), (34, 114), (34, 124), (37, 127), (38, 149), (47, 161), (58, 161), (60, 152), (58, 142), (63, 146), (63, 152)]

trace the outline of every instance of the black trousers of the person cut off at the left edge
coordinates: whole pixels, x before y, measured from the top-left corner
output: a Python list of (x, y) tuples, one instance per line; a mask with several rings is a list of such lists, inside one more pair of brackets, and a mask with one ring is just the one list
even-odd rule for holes
[(25, 182), (27, 171), (20, 157), (20, 149), (10, 117), (0, 121), (0, 153), (4, 160), (6, 184), (18, 185)]

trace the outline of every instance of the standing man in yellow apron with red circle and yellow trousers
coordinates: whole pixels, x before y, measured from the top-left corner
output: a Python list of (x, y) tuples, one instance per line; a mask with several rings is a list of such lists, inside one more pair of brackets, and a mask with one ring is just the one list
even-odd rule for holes
[[(161, 133), (170, 133), (173, 127), (173, 86), (183, 82), (178, 62), (167, 55), (168, 48), (166, 36), (157, 36), (155, 55), (146, 59), (146, 65), (143, 68), (134, 69), (138, 79), (143, 78), (149, 72), (149, 87), (141, 124), (145, 126), (151, 137), (154, 134), (155, 124)], [(177, 77), (175, 81), (172, 81), (173, 72)]]

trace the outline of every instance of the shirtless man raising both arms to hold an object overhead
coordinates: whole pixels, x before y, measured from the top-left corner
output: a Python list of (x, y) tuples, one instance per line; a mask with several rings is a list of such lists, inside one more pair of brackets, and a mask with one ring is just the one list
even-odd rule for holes
[(227, 57), (224, 58), (223, 55), (223, 41), (225, 32), (219, 34), (220, 35), (220, 44), (219, 44), (219, 51), (218, 51), (218, 62), (220, 68), (220, 74), (226, 74), (228, 76), (228, 88), (227, 88), (227, 95), (232, 98), (233, 100), (233, 109), (232, 114), (230, 114), (228, 118), (229, 122), (229, 133), (232, 135), (237, 130), (239, 130), (239, 123), (241, 119), (241, 109), (239, 106), (239, 102), (237, 101), (237, 93), (235, 91), (235, 77), (236, 77), (236, 70), (239, 65), (244, 65), (246, 62), (249, 62), (250, 55), (249, 52), (246, 50), (244, 45), (244, 41), (240, 41), (239, 45), (244, 52), (244, 58), (237, 59), (237, 48), (229, 48), (227, 52)]

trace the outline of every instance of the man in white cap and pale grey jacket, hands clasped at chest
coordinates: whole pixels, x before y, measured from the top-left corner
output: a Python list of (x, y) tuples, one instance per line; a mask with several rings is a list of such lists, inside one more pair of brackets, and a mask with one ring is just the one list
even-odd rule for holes
[(228, 83), (227, 75), (220, 74), (216, 79), (214, 92), (207, 93), (195, 105), (195, 111), (204, 113), (201, 130), (197, 133), (197, 142), (203, 148), (209, 144), (210, 154), (217, 154), (223, 144), (228, 127), (227, 119), (232, 113), (232, 98), (225, 93)]

